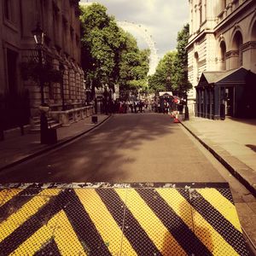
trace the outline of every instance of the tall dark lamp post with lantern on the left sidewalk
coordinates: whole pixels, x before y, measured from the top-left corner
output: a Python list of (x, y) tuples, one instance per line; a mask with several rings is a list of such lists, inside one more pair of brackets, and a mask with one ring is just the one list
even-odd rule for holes
[(37, 27), (32, 30), (32, 35), (36, 42), (36, 50), (38, 52), (38, 64), (39, 64), (39, 85), (40, 85), (40, 94), (41, 94), (41, 106), (40, 109), (40, 132), (41, 132), (41, 143), (48, 143), (48, 121), (45, 113), (49, 110), (49, 108), (44, 103), (44, 80), (42, 78), (42, 69), (43, 69), (43, 45), (44, 45), (44, 31), (40, 27), (39, 23)]

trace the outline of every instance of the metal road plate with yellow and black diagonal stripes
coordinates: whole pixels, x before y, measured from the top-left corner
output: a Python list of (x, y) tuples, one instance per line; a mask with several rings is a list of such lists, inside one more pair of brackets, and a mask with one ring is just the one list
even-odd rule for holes
[(12, 183), (0, 255), (249, 253), (227, 183)]

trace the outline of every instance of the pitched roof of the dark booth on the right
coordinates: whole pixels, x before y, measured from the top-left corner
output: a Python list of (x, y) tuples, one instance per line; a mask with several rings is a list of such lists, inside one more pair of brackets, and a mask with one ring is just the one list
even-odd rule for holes
[(243, 67), (229, 71), (208, 71), (201, 74), (197, 86), (201, 87), (206, 84), (246, 84), (248, 76), (256, 77), (256, 74)]

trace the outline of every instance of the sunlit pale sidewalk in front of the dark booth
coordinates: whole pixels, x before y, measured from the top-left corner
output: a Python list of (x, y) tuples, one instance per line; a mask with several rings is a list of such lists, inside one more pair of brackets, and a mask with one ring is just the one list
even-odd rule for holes
[(256, 196), (256, 119), (190, 117), (181, 124)]

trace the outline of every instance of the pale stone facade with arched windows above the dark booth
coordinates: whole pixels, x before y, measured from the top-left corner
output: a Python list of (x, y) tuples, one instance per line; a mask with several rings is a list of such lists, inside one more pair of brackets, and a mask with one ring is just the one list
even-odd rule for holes
[[(253, 0), (189, 0), (188, 70), (194, 87), (204, 71), (245, 67), (256, 73), (255, 9)], [(189, 101), (192, 110), (195, 89)]]

